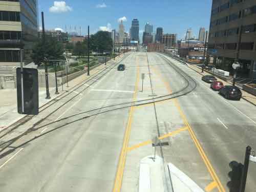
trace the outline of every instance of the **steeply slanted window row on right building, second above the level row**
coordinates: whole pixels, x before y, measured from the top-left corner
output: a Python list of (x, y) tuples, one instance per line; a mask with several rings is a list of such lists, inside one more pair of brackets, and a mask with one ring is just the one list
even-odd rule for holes
[(222, 17), (220, 19), (214, 20), (210, 23), (210, 28), (216, 25), (221, 25), (227, 22), (232, 22), (233, 20), (237, 20), (241, 17), (245, 17), (251, 14), (256, 13), (256, 6), (246, 8), (243, 11), (239, 11), (238, 13), (232, 13), (229, 16)]

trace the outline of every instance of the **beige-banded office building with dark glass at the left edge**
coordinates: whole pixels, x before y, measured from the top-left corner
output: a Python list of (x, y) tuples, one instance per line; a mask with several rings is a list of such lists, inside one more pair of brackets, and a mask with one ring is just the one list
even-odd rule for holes
[(19, 66), (20, 51), (24, 61), (31, 61), (30, 53), (37, 37), (37, 1), (0, 1), (0, 67)]

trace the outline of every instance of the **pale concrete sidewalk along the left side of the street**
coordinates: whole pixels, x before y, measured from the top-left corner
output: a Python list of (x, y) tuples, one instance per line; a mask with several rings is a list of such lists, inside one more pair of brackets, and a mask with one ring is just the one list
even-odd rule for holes
[[(107, 62), (107, 65), (105, 66), (104, 63), (100, 66), (90, 70), (90, 76), (87, 76), (87, 74), (83, 74), (71, 81), (69, 81), (69, 88), (67, 88), (67, 83), (63, 84), (63, 91), (62, 87), (58, 87), (59, 94), (55, 94), (55, 88), (49, 88), (51, 99), (46, 99), (46, 88), (39, 88), (39, 108), (40, 106), (50, 102), (51, 100), (55, 99), (57, 96), (66, 93), (66, 91), (69, 91), (72, 89), (76, 84), (90, 78), (92, 75), (97, 73), (99, 70), (110, 66), (115, 61), (120, 60), (123, 57), (123, 54), (120, 55), (120, 57), (116, 58), (116, 60), (110, 60)], [(16, 89), (11, 90), (0, 90), (0, 132), (4, 129), (7, 129), (10, 125), (17, 122), (18, 120), (22, 119), (26, 115), (18, 114), (17, 113), (17, 93)]]

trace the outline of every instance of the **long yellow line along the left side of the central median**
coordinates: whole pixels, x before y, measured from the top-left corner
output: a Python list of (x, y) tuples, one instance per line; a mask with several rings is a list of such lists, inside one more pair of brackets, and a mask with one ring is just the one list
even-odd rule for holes
[[(138, 92), (138, 83), (139, 83), (139, 66), (138, 66), (138, 57), (136, 57), (136, 63), (137, 63), (137, 78), (136, 78), (136, 84), (135, 84), (135, 93), (133, 95), (133, 101), (136, 101), (136, 96)], [(123, 180), (123, 170), (125, 166), (125, 161), (126, 161), (126, 154), (127, 154), (127, 146), (129, 144), (129, 138), (131, 135), (131, 128), (132, 128), (132, 119), (133, 119), (133, 111), (134, 107), (131, 107), (130, 113), (129, 113), (129, 119), (127, 122), (126, 130), (124, 133), (124, 138), (123, 138), (123, 145), (122, 145), (122, 150), (119, 156), (119, 161), (118, 161), (118, 167), (117, 167), (117, 172), (115, 176), (115, 182), (114, 182), (114, 187), (113, 187), (113, 192), (119, 192), (122, 187), (122, 180)]]

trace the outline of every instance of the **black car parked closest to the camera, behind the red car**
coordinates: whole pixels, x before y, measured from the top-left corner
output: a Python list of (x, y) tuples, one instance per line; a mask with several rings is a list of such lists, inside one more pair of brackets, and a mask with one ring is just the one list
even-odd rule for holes
[(242, 92), (236, 86), (224, 86), (219, 93), (226, 99), (240, 100), (242, 97)]

